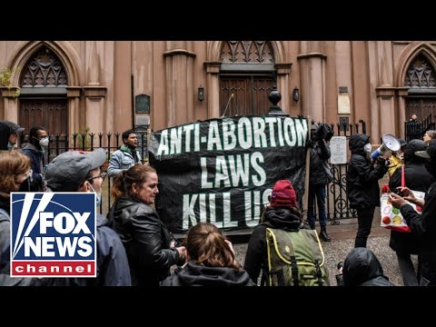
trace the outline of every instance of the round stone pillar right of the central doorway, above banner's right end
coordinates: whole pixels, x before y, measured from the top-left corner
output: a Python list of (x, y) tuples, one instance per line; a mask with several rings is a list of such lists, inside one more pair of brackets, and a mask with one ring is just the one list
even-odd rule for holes
[(325, 60), (318, 41), (302, 41), (301, 54), (297, 56), (300, 64), (300, 87), (302, 114), (311, 115), (315, 122), (323, 122), (325, 117)]

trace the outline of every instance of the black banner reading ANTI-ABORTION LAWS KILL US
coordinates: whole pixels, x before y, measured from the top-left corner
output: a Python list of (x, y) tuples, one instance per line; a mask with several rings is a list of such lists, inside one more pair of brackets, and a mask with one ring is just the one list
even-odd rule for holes
[(254, 227), (274, 183), (304, 192), (307, 119), (244, 116), (183, 124), (152, 134), (159, 177), (156, 211), (175, 233), (199, 222)]

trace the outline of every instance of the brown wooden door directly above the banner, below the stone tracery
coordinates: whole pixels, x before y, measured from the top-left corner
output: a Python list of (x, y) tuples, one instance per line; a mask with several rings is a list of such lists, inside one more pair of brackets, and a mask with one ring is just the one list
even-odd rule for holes
[[(233, 75), (220, 78), (220, 115), (264, 115), (271, 103), (270, 75)], [(233, 98), (232, 98), (233, 94)]]

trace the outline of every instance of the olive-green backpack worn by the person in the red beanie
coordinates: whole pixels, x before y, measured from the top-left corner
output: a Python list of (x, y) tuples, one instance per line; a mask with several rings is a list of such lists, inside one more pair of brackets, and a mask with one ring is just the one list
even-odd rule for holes
[(324, 253), (313, 230), (266, 229), (269, 286), (330, 286)]

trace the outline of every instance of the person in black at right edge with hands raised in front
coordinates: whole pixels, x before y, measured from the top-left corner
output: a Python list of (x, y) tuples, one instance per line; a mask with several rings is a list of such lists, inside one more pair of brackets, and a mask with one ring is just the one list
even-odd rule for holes
[[(431, 140), (426, 151), (415, 154), (430, 159), (425, 167), (436, 179), (436, 140)], [(416, 199), (409, 187), (400, 187), (400, 190), (403, 197), (391, 193), (389, 200), (392, 206), (400, 208), (411, 232), (420, 239), (420, 286), (436, 285), (436, 182), (431, 184), (424, 200)], [(419, 205), (422, 213), (417, 213), (406, 200)]]

